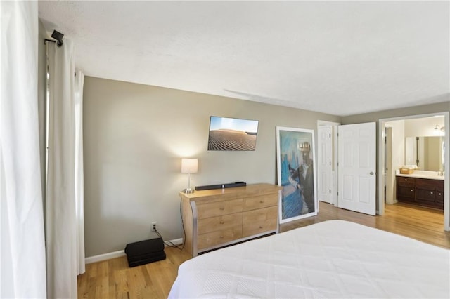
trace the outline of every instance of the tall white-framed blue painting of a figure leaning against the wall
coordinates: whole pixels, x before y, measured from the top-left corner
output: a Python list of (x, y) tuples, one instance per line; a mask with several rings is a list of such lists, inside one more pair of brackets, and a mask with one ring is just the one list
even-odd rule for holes
[(280, 223), (317, 215), (314, 130), (276, 127)]

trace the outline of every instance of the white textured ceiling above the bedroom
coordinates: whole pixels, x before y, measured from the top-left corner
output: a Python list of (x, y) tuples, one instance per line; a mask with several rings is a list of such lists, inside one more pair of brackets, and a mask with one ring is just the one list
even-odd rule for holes
[(449, 1), (39, 1), (93, 77), (340, 116), (448, 101)]

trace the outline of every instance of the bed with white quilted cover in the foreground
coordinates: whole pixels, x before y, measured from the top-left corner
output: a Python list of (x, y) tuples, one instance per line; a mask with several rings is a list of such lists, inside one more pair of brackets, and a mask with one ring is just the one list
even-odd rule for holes
[(187, 260), (169, 298), (450, 298), (450, 251), (328, 220)]

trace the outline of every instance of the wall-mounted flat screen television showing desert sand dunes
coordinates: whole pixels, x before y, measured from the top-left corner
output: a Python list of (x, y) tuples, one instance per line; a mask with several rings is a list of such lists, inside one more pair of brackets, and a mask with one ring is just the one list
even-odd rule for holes
[(254, 151), (258, 135), (258, 121), (211, 117), (208, 150)]

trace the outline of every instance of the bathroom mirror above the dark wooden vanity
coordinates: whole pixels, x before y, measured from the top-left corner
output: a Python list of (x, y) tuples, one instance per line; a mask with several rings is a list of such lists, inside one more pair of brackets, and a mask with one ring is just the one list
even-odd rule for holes
[(442, 136), (405, 138), (405, 164), (417, 165), (421, 171), (443, 171), (444, 151)]

